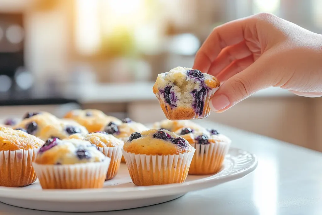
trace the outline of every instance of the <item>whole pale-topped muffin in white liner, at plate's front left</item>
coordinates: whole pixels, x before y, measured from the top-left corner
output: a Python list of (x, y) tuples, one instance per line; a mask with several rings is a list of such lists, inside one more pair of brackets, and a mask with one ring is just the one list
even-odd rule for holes
[(110, 159), (88, 141), (48, 139), (33, 168), (43, 189), (102, 188)]

